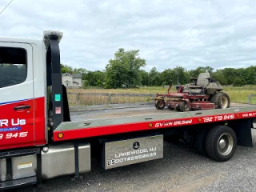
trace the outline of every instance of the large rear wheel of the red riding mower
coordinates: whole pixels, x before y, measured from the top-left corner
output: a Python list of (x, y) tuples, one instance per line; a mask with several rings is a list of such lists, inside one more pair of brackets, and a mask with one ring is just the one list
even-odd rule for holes
[(210, 98), (218, 109), (230, 108), (230, 97), (224, 92), (216, 93)]

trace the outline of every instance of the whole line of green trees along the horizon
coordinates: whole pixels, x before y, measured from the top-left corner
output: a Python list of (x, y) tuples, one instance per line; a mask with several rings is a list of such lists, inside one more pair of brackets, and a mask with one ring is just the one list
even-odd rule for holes
[(114, 58), (110, 59), (105, 70), (90, 71), (82, 68), (72, 68), (61, 65), (62, 73), (81, 73), (84, 86), (98, 86), (109, 88), (132, 88), (135, 86), (166, 86), (178, 83), (186, 84), (190, 78), (197, 78), (198, 74), (209, 72), (211, 77), (223, 86), (256, 85), (256, 66), (247, 68), (225, 68), (215, 70), (211, 66), (199, 66), (195, 70), (186, 70), (182, 66), (158, 71), (153, 67), (150, 72), (142, 70), (146, 60), (139, 57), (139, 50), (119, 49)]

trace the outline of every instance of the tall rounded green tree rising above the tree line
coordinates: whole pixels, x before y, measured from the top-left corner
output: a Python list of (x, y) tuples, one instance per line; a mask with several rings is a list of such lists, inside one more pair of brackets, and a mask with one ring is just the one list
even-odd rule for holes
[(146, 60), (139, 57), (139, 50), (120, 48), (114, 59), (106, 65), (106, 88), (134, 87), (142, 81), (140, 68), (146, 66)]

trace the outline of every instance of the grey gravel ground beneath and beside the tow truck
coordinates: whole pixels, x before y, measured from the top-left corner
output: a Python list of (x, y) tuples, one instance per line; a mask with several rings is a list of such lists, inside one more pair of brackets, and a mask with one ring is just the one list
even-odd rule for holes
[[(256, 130), (252, 130), (256, 146)], [(92, 171), (78, 181), (55, 178), (38, 191), (256, 191), (256, 147), (238, 146), (228, 162), (214, 162), (182, 142), (164, 143), (164, 158), (103, 170), (93, 162)], [(18, 191), (34, 191), (32, 186)]]

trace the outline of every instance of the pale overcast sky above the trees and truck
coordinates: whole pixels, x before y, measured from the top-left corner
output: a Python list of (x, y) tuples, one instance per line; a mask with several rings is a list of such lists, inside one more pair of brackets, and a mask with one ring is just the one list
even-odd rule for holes
[(140, 50), (147, 71), (256, 63), (256, 0), (14, 0), (0, 23), (0, 36), (62, 31), (61, 62), (86, 70), (104, 70), (121, 47)]

